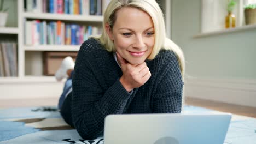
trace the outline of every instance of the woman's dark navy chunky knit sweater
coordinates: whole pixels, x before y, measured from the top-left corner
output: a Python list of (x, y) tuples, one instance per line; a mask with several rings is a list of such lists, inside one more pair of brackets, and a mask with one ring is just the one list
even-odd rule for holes
[(71, 100), (71, 110), (62, 115), (65, 121), (72, 116), (69, 124), (79, 135), (95, 139), (103, 135), (109, 114), (181, 113), (183, 81), (174, 53), (161, 50), (146, 63), (152, 76), (128, 93), (119, 81), (122, 71), (113, 53), (95, 39), (86, 40), (75, 61), (73, 91), (66, 99)]

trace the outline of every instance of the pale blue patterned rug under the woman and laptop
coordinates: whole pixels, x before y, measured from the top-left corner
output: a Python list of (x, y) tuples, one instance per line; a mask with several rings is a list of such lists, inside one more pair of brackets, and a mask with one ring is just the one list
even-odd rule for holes
[[(202, 107), (184, 106), (184, 113), (223, 113)], [(61, 118), (56, 107), (0, 109), (0, 144), (5, 143), (87, 143), (102, 144), (103, 137), (83, 140)], [(255, 144), (256, 118), (232, 115), (225, 144)]]

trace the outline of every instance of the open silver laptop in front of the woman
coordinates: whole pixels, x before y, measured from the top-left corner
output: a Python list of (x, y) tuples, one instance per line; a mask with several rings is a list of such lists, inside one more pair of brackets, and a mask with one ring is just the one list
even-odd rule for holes
[(230, 114), (108, 115), (104, 144), (223, 144)]

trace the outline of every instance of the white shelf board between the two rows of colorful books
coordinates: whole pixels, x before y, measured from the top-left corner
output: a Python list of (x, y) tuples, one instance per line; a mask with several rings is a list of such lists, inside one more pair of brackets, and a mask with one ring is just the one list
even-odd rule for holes
[(28, 12), (25, 12), (23, 15), (27, 19), (87, 21), (87, 22), (103, 21), (103, 16), (95, 16), (95, 15), (69, 15), (69, 14), (28, 13)]

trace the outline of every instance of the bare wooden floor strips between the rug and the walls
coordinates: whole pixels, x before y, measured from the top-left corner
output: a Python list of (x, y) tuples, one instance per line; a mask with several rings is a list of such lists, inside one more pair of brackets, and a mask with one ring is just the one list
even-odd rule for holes
[[(57, 101), (58, 101), (58, 98), (0, 100), (0, 109), (7, 108), (7, 107), (53, 106), (53, 105), (57, 105)], [(195, 99), (195, 98), (186, 98), (185, 104), (200, 106), (200, 107), (205, 107), (207, 109), (235, 113), (237, 115), (256, 118), (256, 107), (232, 105), (232, 104)]]

